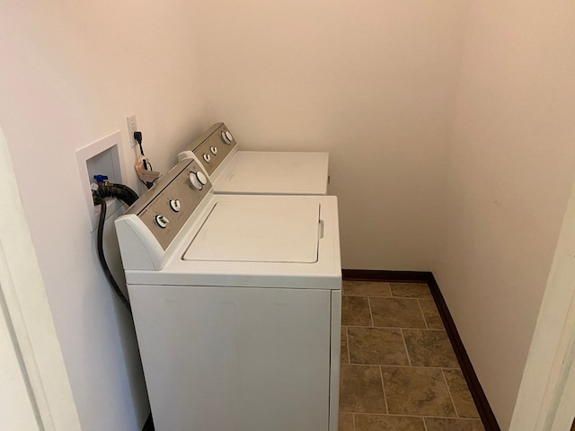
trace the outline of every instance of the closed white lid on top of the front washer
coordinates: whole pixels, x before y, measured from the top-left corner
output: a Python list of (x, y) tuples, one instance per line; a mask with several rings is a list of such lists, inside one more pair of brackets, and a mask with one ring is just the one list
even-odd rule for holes
[(319, 216), (318, 202), (218, 202), (183, 259), (314, 263)]

